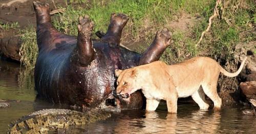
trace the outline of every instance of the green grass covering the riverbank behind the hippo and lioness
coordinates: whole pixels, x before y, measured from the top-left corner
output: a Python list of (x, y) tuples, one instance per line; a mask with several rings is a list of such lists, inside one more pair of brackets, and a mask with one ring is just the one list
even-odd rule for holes
[[(201, 33), (207, 27), (208, 18), (214, 11), (215, 2), (209, 0), (120, 0), (87, 3), (83, 0), (73, 0), (67, 7), (58, 7), (65, 9), (65, 12), (55, 14), (52, 17), (52, 22), (57, 30), (76, 36), (79, 16), (86, 14), (90, 16), (95, 23), (94, 32), (98, 30), (106, 32), (111, 13), (124, 13), (130, 17), (130, 20), (124, 28), (123, 38), (142, 41), (149, 45), (154, 39), (156, 31), (161, 30), (164, 26), (170, 29), (169, 23), (174, 21), (174, 16), (180, 18), (182, 14), (200, 15), (203, 19), (198, 21), (190, 31), (170, 29), (174, 33), (175, 42), (166, 49), (161, 60), (174, 64), (195, 56), (208, 56), (216, 60), (229, 61), (234, 59), (234, 46), (240, 42), (256, 40), (255, 4), (253, 0), (248, 0), (241, 4), (241, 7), (233, 9), (233, 5), (237, 5), (238, 2), (230, 2), (225, 7), (223, 15), (230, 20), (231, 24), (228, 25), (225, 20), (219, 21), (215, 18), (201, 44), (195, 47)], [(24, 46), (21, 49), (22, 62), (33, 68), (37, 56), (35, 32), (30, 28), (22, 33), (25, 33), (23, 36)], [(140, 51), (144, 49), (142, 48)]]

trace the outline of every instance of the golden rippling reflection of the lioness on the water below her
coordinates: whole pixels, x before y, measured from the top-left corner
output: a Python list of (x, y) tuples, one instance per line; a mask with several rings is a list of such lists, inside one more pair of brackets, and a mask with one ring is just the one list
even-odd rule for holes
[[(182, 108), (184, 109), (185, 105), (182, 105)], [(126, 128), (119, 127), (120, 125), (117, 124), (115, 131), (118, 133), (134, 131), (132, 127), (136, 126), (138, 128), (134, 132), (139, 133), (214, 133), (219, 132), (220, 121), (219, 112), (198, 110), (178, 114), (170, 114), (166, 111), (145, 112), (142, 119), (118, 121), (118, 123), (121, 122), (121, 126), (126, 124)], [(130, 125), (132, 127), (129, 127)]]

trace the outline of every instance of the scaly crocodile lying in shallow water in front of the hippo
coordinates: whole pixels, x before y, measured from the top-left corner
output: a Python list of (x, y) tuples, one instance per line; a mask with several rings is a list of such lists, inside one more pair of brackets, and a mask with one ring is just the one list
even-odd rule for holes
[(85, 126), (111, 117), (97, 109), (78, 112), (67, 109), (44, 109), (22, 117), (9, 125), (7, 133), (48, 133), (58, 128)]

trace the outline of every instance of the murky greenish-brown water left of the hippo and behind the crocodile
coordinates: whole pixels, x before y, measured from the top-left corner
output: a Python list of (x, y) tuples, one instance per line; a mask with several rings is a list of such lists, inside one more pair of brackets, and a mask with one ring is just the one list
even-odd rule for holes
[[(44, 101), (35, 101), (33, 76), (17, 63), (0, 60), (0, 99), (11, 104), (0, 109), (0, 133), (6, 132), (10, 122), (37, 110), (52, 108)], [(18, 100), (18, 101), (17, 101)]]

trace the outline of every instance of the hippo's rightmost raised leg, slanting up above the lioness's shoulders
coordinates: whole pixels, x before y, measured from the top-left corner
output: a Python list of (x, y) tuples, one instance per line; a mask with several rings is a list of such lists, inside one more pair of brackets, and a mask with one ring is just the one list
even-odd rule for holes
[(153, 43), (144, 51), (140, 57), (139, 65), (151, 63), (160, 59), (164, 50), (170, 45), (172, 32), (167, 28), (158, 31)]

